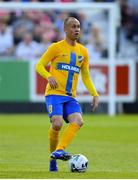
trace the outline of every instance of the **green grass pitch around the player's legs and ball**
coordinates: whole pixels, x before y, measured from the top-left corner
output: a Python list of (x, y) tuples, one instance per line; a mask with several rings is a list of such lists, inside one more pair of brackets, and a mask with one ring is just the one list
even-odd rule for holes
[(66, 149), (89, 160), (86, 173), (59, 161), (48, 172), (47, 115), (0, 115), (0, 178), (138, 178), (138, 116), (84, 115), (85, 124)]

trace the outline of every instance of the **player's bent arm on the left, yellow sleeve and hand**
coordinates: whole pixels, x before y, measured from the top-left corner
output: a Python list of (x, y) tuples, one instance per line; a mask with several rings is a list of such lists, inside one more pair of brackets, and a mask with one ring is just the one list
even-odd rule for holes
[(56, 78), (52, 76), (47, 70), (46, 65), (54, 59), (54, 48), (49, 47), (48, 50), (41, 56), (36, 64), (36, 72), (40, 74), (44, 79), (48, 80), (48, 83), (52, 89), (58, 87)]

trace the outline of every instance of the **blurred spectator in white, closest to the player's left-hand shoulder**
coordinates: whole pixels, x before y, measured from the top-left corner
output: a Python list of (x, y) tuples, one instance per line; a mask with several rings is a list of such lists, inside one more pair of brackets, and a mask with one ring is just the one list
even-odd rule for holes
[(40, 57), (39, 44), (33, 41), (31, 33), (25, 33), (23, 40), (17, 45), (15, 55), (21, 60), (36, 60)]

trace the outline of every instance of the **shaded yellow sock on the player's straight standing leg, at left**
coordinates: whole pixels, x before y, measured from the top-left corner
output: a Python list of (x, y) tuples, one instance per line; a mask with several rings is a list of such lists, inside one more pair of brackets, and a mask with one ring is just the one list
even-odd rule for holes
[(50, 152), (56, 150), (58, 144), (59, 131), (54, 130), (52, 127), (49, 128), (49, 140), (50, 140)]

